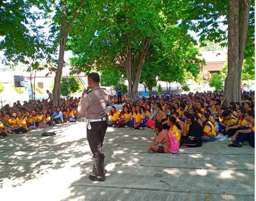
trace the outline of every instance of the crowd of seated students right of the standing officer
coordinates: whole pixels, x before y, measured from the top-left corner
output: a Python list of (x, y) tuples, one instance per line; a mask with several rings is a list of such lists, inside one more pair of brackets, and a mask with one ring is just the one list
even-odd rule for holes
[[(242, 104), (223, 105), (224, 92), (189, 93), (188, 95), (156, 95), (140, 100), (127, 100), (121, 110), (109, 110), (109, 126), (116, 128), (154, 128), (157, 135), (165, 130), (175, 135), (179, 146), (199, 147), (202, 142), (231, 141), (241, 147), (249, 141), (254, 148), (254, 92), (243, 92)], [(156, 123), (158, 122), (158, 123)], [(161, 133), (161, 136), (166, 135)], [(163, 141), (157, 141), (161, 139)], [(153, 147), (171, 146), (167, 138), (154, 139)], [(169, 150), (159, 147), (159, 152)], [(156, 151), (150, 150), (149, 152)]]

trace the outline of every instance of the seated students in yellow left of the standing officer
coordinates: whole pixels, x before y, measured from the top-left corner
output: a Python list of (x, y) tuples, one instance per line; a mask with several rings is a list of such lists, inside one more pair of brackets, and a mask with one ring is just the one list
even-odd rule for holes
[(9, 134), (26, 133), (36, 127), (44, 128), (77, 120), (79, 100), (71, 97), (61, 99), (61, 106), (50, 108), (47, 100), (30, 100), (6, 104), (0, 109), (0, 138)]

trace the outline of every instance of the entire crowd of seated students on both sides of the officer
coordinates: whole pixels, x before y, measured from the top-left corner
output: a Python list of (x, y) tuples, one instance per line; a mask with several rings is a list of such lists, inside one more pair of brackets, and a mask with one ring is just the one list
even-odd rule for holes
[[(223, 105), (224, 92), (189, 93), (188, 95), (156, 95), (140, 100), (123, 96), (124, 104), (117, 111), (110, 99), (108, 125), (116, 128), (148, 127), (161, 133), (153, 141), (154, 150), (168, 152), (172, 146), (166, 133), (174, 135), (182, 147), (199, 147), (203, 142), (231, 141), (231, 147), (242, 147), (248, 141), (254, 148), (255, 93), (243, 92), (242, 103)], [(79, 100), (61, 99), (61, 106), (50, 108), (47, 100), (19, 101), (0, 109), (0, 137), (9, 133), (22, 134), (36, 127), (75, 122)], [(113, 101), (115, 103), (115, 101)], [(151, 147), (151, 146), (150, 146)]]

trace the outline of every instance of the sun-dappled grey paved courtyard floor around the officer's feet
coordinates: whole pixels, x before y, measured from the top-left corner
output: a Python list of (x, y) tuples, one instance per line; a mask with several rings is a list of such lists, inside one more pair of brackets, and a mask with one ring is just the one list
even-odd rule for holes
[[(54, 137), (41, 137), (46, 130)], [(1, 201), (254, 201), (254, 149), (230, 142), (148, 154), (151, 129), (108, 128), (106, 181), (92, 182), (85, 123), (0, 139)]]

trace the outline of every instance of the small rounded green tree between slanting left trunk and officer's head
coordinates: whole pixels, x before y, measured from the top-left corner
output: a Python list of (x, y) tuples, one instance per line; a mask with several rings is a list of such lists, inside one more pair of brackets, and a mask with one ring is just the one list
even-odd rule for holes
[(70, 96), (71, 93), (78, 92), (81, 86), (75, 77), (64, 77), (60, 83), (60, 93), (62, 96)]

